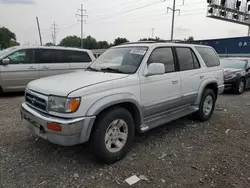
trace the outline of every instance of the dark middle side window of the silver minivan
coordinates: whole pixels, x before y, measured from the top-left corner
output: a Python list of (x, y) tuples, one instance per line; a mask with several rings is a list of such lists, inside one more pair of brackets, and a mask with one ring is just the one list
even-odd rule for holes
[(61, 50), (39, 49), (36, 53), (37, 63), (62, 63)]

